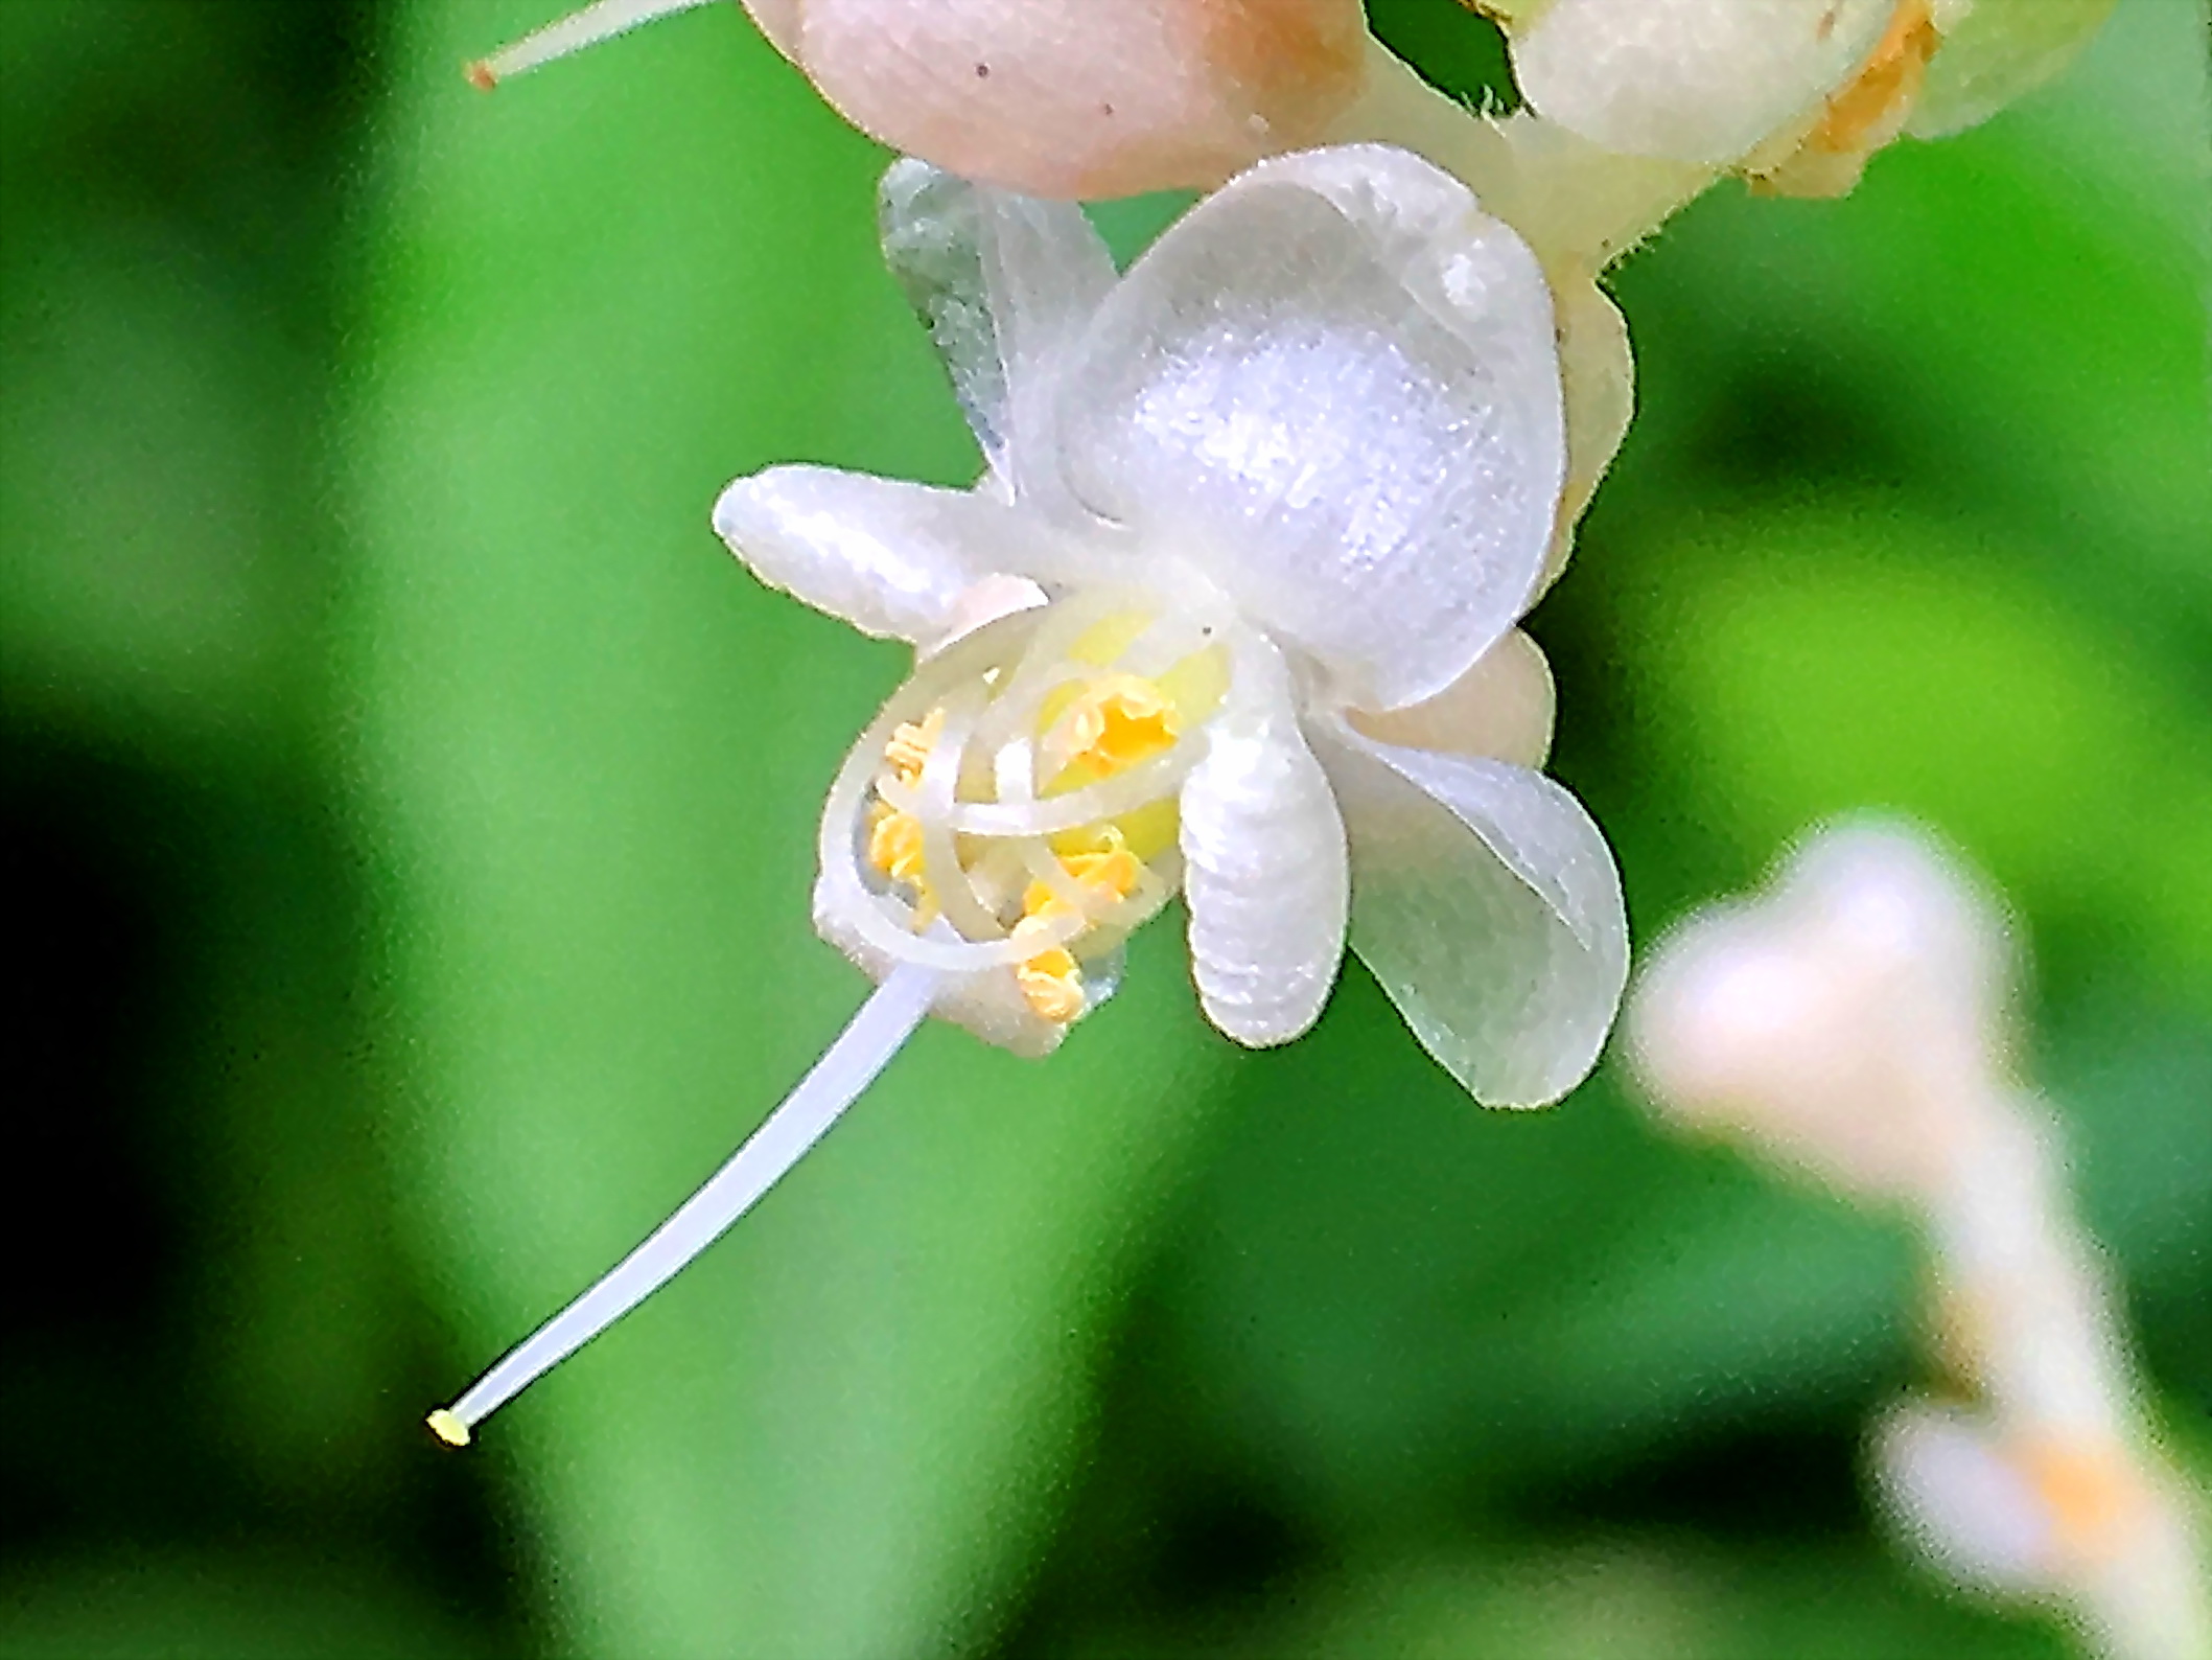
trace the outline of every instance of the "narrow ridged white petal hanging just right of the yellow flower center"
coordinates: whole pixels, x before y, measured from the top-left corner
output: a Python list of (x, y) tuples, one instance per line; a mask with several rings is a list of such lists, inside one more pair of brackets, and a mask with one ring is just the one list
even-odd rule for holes
[(1223, 715), (1183, 784), (1190, 974), (1206, 1016), (1254, 1049), (1321, 1018), (1345, 956), (1345, 826), (1287, 699)]

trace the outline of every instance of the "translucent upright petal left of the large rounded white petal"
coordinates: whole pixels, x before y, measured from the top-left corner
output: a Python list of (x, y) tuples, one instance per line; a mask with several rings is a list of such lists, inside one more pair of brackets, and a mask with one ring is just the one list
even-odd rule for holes
[(1020, 487), (1020, 434), (1115, 268), (1073, 201), (1037, 201), (900, 159), (878, 193), (883, 259), (945, 359), (991, 467)]

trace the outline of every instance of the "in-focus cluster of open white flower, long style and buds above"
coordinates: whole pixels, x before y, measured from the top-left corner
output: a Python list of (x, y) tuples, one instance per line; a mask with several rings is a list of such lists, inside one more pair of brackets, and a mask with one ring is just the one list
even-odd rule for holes
[[(1573, 1089), (1628, 930), (1540, 770), (1553, 686), (1517, 622), (1635, 407), (1599, 277), (1717, 177), (1849, 188), (2051, 73), (2106, 2), (1484, 0), (1528, 93), (1495, 117), (1358, 0), (745, 0), (916, 157), (885, 257), (984, 458), (967, 491), (772, 467), (714, 507), (763, 582), (916, 649), (821, 821), (816, 927), (878, 989), (434, 1428), (465, 1441), (677, 1273), (929, 1014), (1055, 1049), (1175, 896), (1239, 1042), (1303, 1034), (1349, 943), (1473, 1098)], [(597, 0), (471, 77), (697, 4)], [(1117, 274), (1073, 201), (1166, 186), (1212, 195)], [(1860, 1175), (1913, 1138), (1847, 1142), (1805, 1138)]]

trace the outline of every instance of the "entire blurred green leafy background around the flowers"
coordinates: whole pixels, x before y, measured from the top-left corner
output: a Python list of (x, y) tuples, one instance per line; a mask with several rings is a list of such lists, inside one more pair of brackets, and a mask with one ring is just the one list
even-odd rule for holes
[[(883, 153), (726, 7), (469, 93), (549, 9), (0, 4), (0, 1653), (2059, 1653), (1869, 1523), (1902, 1226), (1610, 1065), (1482, 1113), (1358, 969), (1239, 1054), (1172, 923), (1051, 1062), (925, 1031), (429, 1441), (863, 992), (812, 834), (900, 653), (745, 578), (714, 491), (975, 467)], [(1502, 84), (1449, 0), (1376, 22)], [(2203, 31), (2121, 0), (1849, 201), (1730, 186), (1635, 257), (1644, 412), (1531, 624), (1639, 941), (1858, 806), (2008, 890), (2190, 1448)]]

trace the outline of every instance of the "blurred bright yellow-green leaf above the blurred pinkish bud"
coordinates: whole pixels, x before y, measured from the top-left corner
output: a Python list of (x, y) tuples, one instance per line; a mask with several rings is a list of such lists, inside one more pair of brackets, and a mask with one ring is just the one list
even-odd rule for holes
[(1743, 850), (1902, 810), (2024, 912), (2212, 992), (2212, 719), (2185, 682), (1911, 511), (1712, 516), (1644, 558), (1644, 719)]

